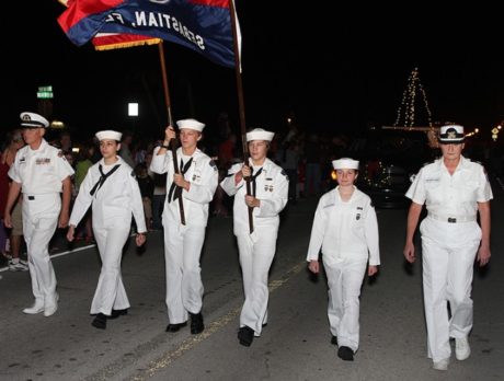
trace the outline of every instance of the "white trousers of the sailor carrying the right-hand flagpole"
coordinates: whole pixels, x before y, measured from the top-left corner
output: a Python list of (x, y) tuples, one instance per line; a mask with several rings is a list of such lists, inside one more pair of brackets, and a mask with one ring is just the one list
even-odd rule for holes
[(240, 327), (248, 326), (261, 335), (267, 323), (267, 276), (275, 256), (277, 230), (254, 227), (252, 235), (237, 235), (240, 265), (243, 274), (245, 302), (240, 314)]

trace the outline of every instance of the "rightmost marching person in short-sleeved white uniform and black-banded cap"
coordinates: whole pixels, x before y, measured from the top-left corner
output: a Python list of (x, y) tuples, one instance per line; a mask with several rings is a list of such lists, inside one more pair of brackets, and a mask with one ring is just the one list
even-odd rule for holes
[(462, 126), (443, 126), (443, 158), (422, 168), (406, 193), (412, 203), (403, 253), (410, 263), (416, 258), (413, 236), (424, 204), (428, 212), (420, 232), (427, 353), (436, 370), (448, 369), (450, 337), (458, 360), (470, 356), (474, 257), (480, 266), (490, 261), (492, 189), (483, 166), (461, 154), (463, 140)]

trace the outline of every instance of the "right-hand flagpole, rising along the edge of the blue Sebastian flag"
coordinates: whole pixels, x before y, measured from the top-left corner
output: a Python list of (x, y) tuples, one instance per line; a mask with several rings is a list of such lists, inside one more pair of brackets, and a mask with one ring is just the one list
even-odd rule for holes
[[(237, 92), (238, 92), (238, 108), (240, 115), (240, 129), (241, 129), (241, 146), (243, 149), (243, 163), (249, 165), (249, 150), (247, 145), (247, 124), (245, 124), (245, 103), (243, 102), (243, 84), (241, 81), (241, 65), (240, 65), (240, 50), (238, 47), (238, 32), (237, 32), (237, 12), (234, 9), (234, 0), (229, 0), (229, 13), (231, 16), (232, 30), (232, 46), (234, 49), (234, 73), (237, 77)], [(251, 184), (250, 176), (244, 177), (247, 184), (247, 195), (250, 196)], [(252, 234), (254, 231), (253, 208), (249, 207), (249, 230)]]

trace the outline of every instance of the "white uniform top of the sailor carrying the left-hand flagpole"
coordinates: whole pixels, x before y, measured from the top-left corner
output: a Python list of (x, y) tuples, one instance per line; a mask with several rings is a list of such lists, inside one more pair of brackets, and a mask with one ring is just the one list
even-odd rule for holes
[[(168, 173), (167, 176), (167, 201), (163, 215), (169, 219), (179, 221), (180, 209), (179, 200), (168, 200), (168, 193), (173, 183), (173, 154), (167, 151), (164, 155), (158, 155), (160, 148), (154, 149), (150, 170), (158, 174)], [(176, 157), (182, 158), (182, 148), (176, 150)], [(206, 227), (208, 221), (208, 204), (214, 198), (215, 190), (219, 183), (219, 173), (214, 161), (199, 149), (192, 155), (193, 162), (184, 174), (184, 178), (191, 183), (190, 190), (182, 190), (184, 201), (184, 216), (187, 226)], [(179, 162), (180, 166), (180, 162)], [(179, 170), (181, 170), (179, 168)]]

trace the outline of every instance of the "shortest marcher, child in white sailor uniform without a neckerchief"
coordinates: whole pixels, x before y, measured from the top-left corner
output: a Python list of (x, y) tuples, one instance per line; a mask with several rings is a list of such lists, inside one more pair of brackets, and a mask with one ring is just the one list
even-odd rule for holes
[(354, 360), (359, 343), (359, 296), (366, 273), (380, 265), (378, 221), (370, 198), (354, 185), (358, 161), (332, 162), (339, 186), (319, 200), (308, 247), (308, 268), (320, 272), (319, 252), (328, 276), (328, 316), (337, 356)]

